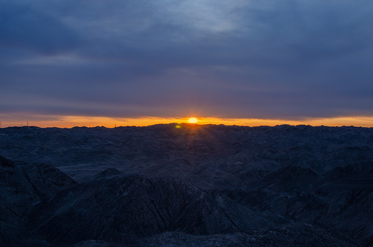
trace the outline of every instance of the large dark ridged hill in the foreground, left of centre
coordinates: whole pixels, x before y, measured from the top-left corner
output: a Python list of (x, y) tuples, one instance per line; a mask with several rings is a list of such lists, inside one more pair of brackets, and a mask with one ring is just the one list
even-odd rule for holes
[(83, 183), (36, 205), (27, 226), (55, 244), (84, 239), (131, 244), (164, 231), (210, 235), (287, 222), (184, 180), (126, 175)]

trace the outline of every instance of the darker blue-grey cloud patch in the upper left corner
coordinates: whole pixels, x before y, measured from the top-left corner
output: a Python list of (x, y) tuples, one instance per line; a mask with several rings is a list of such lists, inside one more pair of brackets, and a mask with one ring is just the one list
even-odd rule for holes
[(78, 45), (76, 34), (32, 5), (1, 1), (0, 44), (5, 47), (32, 49), (43, 54), (69, 51)]

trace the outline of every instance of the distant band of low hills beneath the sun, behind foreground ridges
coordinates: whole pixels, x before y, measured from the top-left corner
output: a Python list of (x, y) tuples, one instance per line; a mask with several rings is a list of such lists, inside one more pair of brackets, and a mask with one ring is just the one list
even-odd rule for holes
[(48, 163), (76, 180), (115, 168), (206, 188), (246, 185), (288, 165), (324, 172), (373, 158), (371, 128), (175, 126), (4, 128), (0, 155)]

